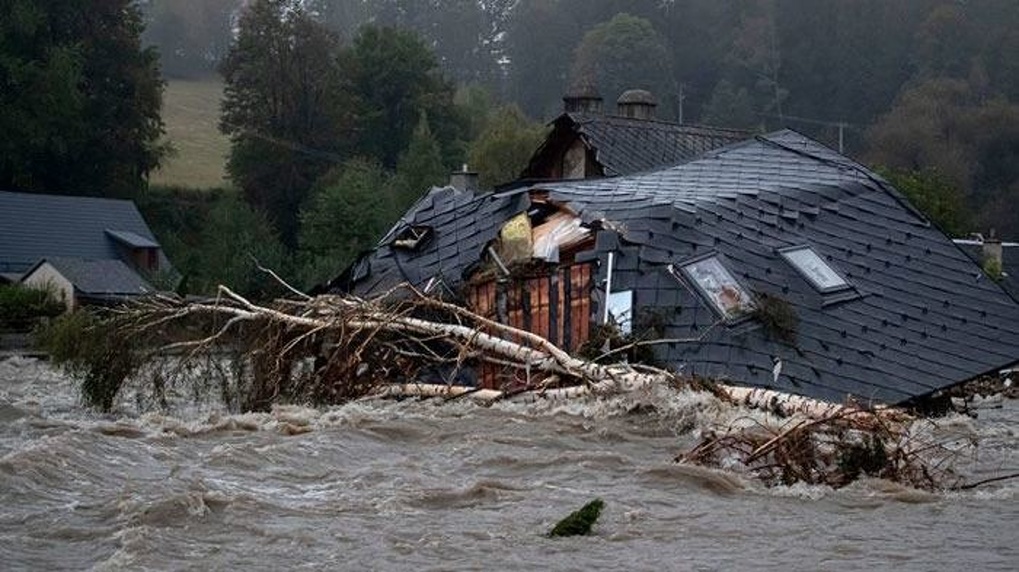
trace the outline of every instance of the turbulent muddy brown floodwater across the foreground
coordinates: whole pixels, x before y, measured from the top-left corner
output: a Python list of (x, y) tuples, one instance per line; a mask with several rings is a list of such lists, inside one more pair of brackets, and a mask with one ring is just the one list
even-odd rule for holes
[[(565, 404), (279, 408), (181, 397), (111, 417), (0, 362), (0, 566), (57, 569), (1015, 570), (1016, 481), (767, 489), (671, 462), (747, 415), (661, 392)], [(654, 407), (648, 407), (654, 404)], [(757, 415), (757, 414), (753, 414)], [(1019, 403), (940, 421), (977, 478), (1019, 467)], [(590, 537), (543, 536), (594, 497)]]

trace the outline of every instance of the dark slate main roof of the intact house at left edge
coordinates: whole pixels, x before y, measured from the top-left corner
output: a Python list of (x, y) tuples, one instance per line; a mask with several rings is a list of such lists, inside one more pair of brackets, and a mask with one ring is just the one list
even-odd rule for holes
[[(51, 256), (116, 259), (124, 237), (156, 245), (131, 201), (0, 192), (0, 272), (24, 272)], [(165, 258), (160, 267), (169, 267)]]

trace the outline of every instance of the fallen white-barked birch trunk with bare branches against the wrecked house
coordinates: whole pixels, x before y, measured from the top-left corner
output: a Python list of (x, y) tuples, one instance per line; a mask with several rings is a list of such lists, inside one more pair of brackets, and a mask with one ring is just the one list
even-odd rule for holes
[[(693, 385), (733, 403), (783, 415), (839, 415), (859, 423), (908, 418), (896, 409), (840, 405), (771, 389), (696, 381), (640, 364), (595, 363), (571, 356), (535, 333), (429, 298), (410, 287), (400, 287), (400, 291), (399, 296), (390, 292), (373, 299), (302, 295), (259, 305), (220, 287), (220, 296), (206, 301), (146, 299), (121, 312), (119, 321), (136, 339), (167, 341), (152, 348), (161, 352), (195, 356), (225, 347), (247, 356), (254, 364), (253, 374), (268, 382), (266, 387), (256, 383), (255, 395), (247, 400), (249, 408), (267, 404), (267, 398), (281, 397), (341, 403), (365, 396), (470, 396), (491, 403), (511, 398), (576, 398), (668, 384)], [(203, 328), (207, 333), (195, 335)], [(312, 367), (298, 374), (296, 368), (309, 362)], [(471, 362), (518, 369), (525, 373), (527, 382), (509, 389), (452, 382), (457, 372)], [(434, 382), (437, 371), (446, 372), (446, 379)], [(433, 382), (421, 381), (428, 377)]]

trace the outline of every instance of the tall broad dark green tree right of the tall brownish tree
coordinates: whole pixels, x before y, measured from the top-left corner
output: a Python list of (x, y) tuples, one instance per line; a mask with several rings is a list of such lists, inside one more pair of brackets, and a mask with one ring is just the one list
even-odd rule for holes
[(341, 61), (345, 87), (356, 101), (357, 154), (395, 167), (424, 112), (443, 160), (459, 161), (466, 122), (453, 105), (452, 86), (420, 38), (403, 30), (366, 27)]

